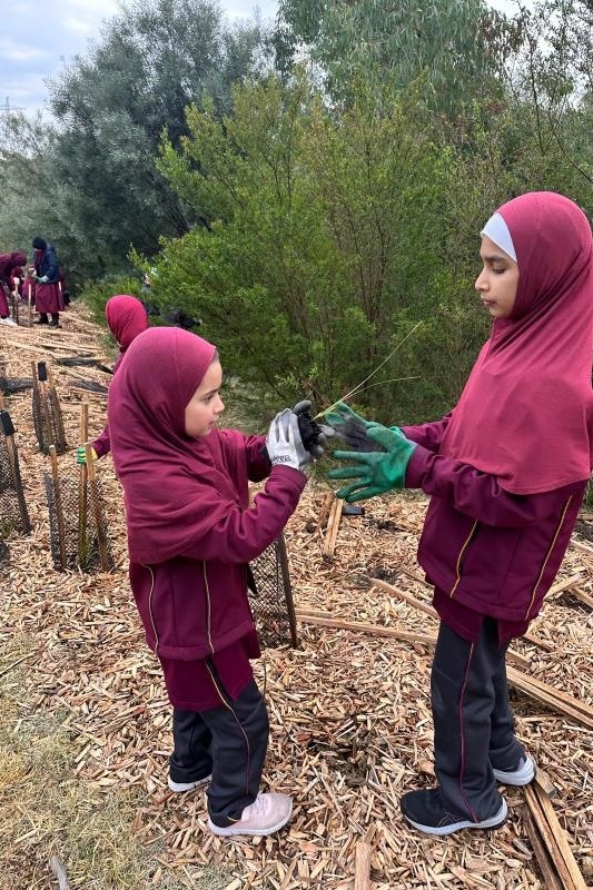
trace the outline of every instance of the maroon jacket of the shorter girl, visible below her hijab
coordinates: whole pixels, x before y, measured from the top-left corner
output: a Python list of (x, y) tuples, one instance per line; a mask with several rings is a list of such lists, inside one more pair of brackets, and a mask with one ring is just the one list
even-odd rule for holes
[[(245, 437), (248, 476), (269, 473), (264, 436)], [(130, 583), (150, 649), (164, 659), (204, 659), (254, 631), (247, 563), (284, 528), (307, 482), (290, 467), (271, 469), (248, 510), (224, 516), (190, 548), (167, 562), (130, 563)]]

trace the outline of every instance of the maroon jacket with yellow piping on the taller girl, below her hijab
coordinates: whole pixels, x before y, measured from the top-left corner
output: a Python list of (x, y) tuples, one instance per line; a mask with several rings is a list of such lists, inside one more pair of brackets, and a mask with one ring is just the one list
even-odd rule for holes
[(543, 494), (508, 494), (496, 476), (438, 454), (448, 419), (402, 428), (418, 443), (406, 487), (431, 495), (418, 562), (451, 604), (531, 621), (560, 568), (587, 479)]

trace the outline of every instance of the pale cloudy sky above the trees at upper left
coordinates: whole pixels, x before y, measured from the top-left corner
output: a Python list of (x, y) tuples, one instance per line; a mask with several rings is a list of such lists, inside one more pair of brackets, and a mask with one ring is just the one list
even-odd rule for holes
[[(42, 110), (43, 81), (77, 52), (85, 55), (101, 22), (119, 12), (116, 0), (3, 0), (0, 24), (0, 107)], [(277, 0), (219, 0), (228, 18), (274, 18)]]

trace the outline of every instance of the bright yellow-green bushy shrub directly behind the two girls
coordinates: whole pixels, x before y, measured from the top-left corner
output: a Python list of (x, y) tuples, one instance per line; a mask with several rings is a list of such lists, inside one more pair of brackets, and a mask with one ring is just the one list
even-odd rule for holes
[(458, 310), (467, 268), (443, 267), (451, 215), (467, 208), (417, 91), (385, 87), (377, 106), (359, 83), (336, 109), (304, 76), (269, 77), (235, 90), (233, 117), (194, 108), (188, 126), (160, 166), (208, 225), (165, 243), (157, 300), (201, 316), (224, 363), (284, 398), (328, 405), (395, 350), (360, 404), (396, 419), (446, 408), (484, 326), (471, 303)]

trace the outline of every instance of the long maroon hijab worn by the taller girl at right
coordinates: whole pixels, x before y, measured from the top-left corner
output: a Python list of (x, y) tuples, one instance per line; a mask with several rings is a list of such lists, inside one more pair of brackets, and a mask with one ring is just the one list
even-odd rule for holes
[(553, 191), (497, 212), (517, 257), (515, 306), (495, 319), (441, 453), (536, 494), (591, 475), (593, 240), (582, 210)]

